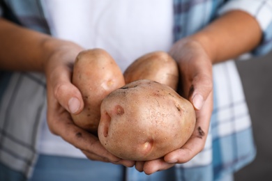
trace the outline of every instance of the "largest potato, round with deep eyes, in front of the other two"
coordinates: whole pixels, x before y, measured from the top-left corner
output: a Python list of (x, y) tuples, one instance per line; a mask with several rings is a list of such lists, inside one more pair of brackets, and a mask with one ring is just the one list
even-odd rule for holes
[(147, 161), (181, 148), (195, 127), (195, 110), (169, 86), (141, 79), (101, 104), (98, 138), (113, 155)]

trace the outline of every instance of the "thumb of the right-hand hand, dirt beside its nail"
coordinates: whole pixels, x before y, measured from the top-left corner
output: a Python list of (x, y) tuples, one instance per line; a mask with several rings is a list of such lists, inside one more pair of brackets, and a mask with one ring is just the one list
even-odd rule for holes
[(195, 109), (200, 110), (213, 90), (213, 79), (208, 74), (198, 74), (189, 90), (189, 100)]

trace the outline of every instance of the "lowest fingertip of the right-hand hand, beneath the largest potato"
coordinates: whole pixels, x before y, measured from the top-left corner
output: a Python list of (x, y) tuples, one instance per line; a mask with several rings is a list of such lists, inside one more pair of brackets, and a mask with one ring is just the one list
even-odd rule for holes
[(166, 170), (168, 168), (171, 168), (172, 166), (174, 166), (174, 164), (169, 164), (167, 162), (165, 162), (164, 159), (154, 159), (151, 161), (147, 161), (144, 163), (144, 173), (146, 173), (146, 175), (150, 175), (152, 173), (155, 173), (157, 171), (163, 171)]

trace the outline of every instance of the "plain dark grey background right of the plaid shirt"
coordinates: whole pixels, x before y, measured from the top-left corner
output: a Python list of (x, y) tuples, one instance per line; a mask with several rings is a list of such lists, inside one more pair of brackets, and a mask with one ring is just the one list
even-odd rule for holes
[(235, 181), (272, 180), (272, 52), (236, 61), (257, 145), (256, 159), (234, 175)]

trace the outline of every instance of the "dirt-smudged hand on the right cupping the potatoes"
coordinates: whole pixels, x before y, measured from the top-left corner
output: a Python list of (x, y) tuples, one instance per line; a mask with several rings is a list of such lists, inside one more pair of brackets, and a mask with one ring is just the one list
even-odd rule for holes
[(212, 63), (202, 45), (190, 38), (176, 42), (169, 54), (177, 61), (180, 70), (179, 93), (195, 107), (196, 125), (190, 139), (180, 149), (165, 157), (148, 162), (136, 162), (138, 171), (151, 174), (183, 164), (199, 153), (205, 145), (213, 110)]

